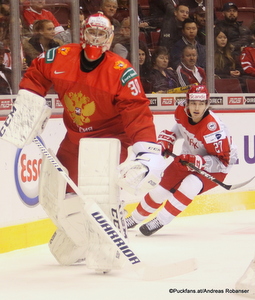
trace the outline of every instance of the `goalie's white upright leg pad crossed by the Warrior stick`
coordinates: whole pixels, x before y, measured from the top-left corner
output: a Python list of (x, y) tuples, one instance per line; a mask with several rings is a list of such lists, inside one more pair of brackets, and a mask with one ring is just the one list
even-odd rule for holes
[[(120, 190), (116, 184), (120, 141), (85, 138), (80, 140), (79, 149), (79, 188), (88, 201), (93, 199), (122, 235), (127, 237)], [(116, 250), (101, 230), (97, 230), (89, 220), (86, 229), (88, 238), (86, 266), (98, 272), (122, 268), (125, 262), (123, 254)]]

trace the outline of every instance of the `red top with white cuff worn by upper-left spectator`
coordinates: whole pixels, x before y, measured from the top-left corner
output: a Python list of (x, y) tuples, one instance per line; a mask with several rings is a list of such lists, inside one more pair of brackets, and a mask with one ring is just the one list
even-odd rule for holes
[(63, 26), (61, 26), (55, 16), (49, 10), (42, 9), (40, 13), (33, 10), (31, 7), (24, 10), (23, 17), (30, 29), (33, 28), (33, 24), (36, 20), (50, 20), (55, 26), (56, 34), (64, 31)]

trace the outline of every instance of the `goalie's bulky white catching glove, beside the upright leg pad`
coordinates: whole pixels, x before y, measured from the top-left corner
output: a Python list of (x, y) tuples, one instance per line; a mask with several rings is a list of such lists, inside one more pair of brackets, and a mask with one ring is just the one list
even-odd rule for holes
[(165, 167), (160, 145), (137, 142), (119, 166), (118, 185), (133, 195), (147, 194), (159, 184)]

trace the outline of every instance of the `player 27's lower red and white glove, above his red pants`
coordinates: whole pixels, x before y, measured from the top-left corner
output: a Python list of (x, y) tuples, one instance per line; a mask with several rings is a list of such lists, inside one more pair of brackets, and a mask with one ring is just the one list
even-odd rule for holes
[(192, 154), (182, 154), (179, 156), (176, 156), (174, 158), (175, 163), (178, 163), (180, 165), (180, 168), (183, 171), (191, 171), (194, 172), (192, 168), (189, 167), (189, 164), (193, 164), (195, 167), (199, 168), (200, 170), (203, 170), (205, 168), (206, 161), (204, 158), (200, 155), (192, 155)]

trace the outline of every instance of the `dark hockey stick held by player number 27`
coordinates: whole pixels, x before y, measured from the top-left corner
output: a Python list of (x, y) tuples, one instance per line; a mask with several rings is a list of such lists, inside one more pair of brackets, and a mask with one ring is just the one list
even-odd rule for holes
[[(170, 152), (167, 152), (169, 155), (171, 155), (172, 157), (177, 157), (176, 154), (174, 153), (170, 153)], [(205, 178), (217, 183), (218, 185), (220, 185), (221, 187), (223, 187), (224, 189), (226, 190), (235, 190), (235, 189), (239, 189), (240, 187), (242, 186), (245, 186), (246, 184), (250, 183), (254, 178), (255, 176), (253, 176), (251, 179), (247, 180), (247, 181), (244, 181), (244, 182), (241, 182), (241, 183), (237, 183), (237, 184), (225, 184), (223, 183), (222, 181), (218, 180), (217, 178), (213, 177), (211, 174), (207, 173), (206, 171), (204, 170), (201, 170), (199, 168), (197, 168), (194, 164), (192, 163), (189, 163), (187, 161), (181, 161), (181, 163), (183, 165), (186, 165), (188, 166), (189, 168), (193, 169), (194, 171), (196, 171), (198, 174), (201, 174), (202, 176), (204, 176)]]

